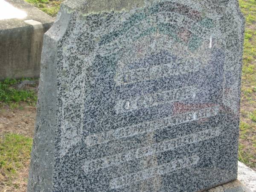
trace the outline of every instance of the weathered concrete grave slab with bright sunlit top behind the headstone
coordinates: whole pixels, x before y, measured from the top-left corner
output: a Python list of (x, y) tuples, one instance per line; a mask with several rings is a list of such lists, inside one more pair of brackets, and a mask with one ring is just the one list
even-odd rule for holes
[(0, 0), (0, 79), (39, 77), (43, 35), (53, 22), (24, 0)]

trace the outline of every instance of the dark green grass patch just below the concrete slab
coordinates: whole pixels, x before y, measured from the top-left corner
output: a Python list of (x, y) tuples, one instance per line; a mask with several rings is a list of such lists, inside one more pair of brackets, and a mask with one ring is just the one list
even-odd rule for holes
[[(20, 102), (27, 102), (29, 105), (35, 106), (37, 94), (33, 90), (18, 90), (13, 86), (25, 79), (6, 79), (0, 81), (0, 106), (9, 105), (11, 107), (18, 106)], [(28, 79), (27, 79), (28, 80)]]

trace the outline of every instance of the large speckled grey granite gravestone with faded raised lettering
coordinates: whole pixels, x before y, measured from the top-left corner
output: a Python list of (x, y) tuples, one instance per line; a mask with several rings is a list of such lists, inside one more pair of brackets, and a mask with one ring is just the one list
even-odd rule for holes
[(69, 0), (46, 33), (28, 192), (237, 177), (237, 0)]

